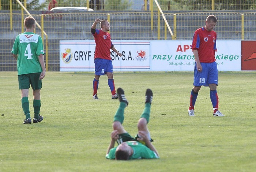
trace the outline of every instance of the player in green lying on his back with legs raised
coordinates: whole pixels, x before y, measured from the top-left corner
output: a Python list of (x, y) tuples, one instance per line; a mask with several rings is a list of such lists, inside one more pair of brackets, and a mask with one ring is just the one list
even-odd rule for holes
[[(128, 106), (124, 90), (122, 88), (118, 88), (117, 93), (119, 96), (120, 106), (114, 116), (113, 131), (111, 133), (111, 141), (107, 150), (106, 158), (116, 160), (159, 158), (157, 150), (151, 144), (153, 140), (150, 137), (150, 132), (147, 127), (153, 92), (151, 89), (147, 89), (146, 91), (145, 107), (138, 121), (138, 134), (135, 138), (129, 135), (122, 125), (124, 121), (124, 108)], [(115, 142), (117, 142), (118, 146), (114, 148)]]

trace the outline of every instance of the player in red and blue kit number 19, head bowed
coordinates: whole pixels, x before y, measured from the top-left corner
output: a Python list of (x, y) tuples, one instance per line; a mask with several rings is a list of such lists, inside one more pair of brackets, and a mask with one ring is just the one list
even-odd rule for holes
[(206, 25), (195, 31), (191, 49), (195, 57), (194, 87), (190, 95), (188, 109), (189, 116), (195, 116), (194, 106), (201, 86), (210, 88), (210, 98), (213, 106), (213, 116), (225, 116), (219, 110), (219, 98), (217, 94), (218, 69), (215, 62), (215, 50), (217, 34), (213, 29), (217, 24), (217, 18), (209, 15)]

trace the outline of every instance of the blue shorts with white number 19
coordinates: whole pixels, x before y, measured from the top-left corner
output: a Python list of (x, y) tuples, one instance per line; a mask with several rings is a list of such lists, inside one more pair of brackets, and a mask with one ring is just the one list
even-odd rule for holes
[(194, 86), (206, 86), (209, 84), (218, 85), (218, 69), (217, 63), (200, 63), (202, 66), (202, 72), (197, 70), (197, 66), (195, 64), (194, 68)]

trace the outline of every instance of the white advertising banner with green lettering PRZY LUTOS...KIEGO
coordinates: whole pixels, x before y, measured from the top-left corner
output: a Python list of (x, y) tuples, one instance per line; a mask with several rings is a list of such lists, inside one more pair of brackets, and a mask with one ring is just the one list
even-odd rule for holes
[[(191, 40), (150, 41), (152, 71), (193, 71)], [(241, 41), (217, 40), (215, 58), (219, 71), (241, 70)]]

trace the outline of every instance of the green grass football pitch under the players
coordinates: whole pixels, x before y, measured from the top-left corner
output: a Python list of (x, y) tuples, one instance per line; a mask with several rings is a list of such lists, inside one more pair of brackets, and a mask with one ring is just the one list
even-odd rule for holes
[[(116, 89), (129, 101), (124, 127), (137, 133), (147, 88), (153, 91), (148, 127), (160, 159), (105, 158), (113, 115), (106, 76), (93, 100), (94, 73), (47, 72), (41, 90), (44, 121), (25, 119), (16, 72), (0, 72), (0, 171), (189, 171), (234, 172), (256, 169), (256, 72), (220, 72), (219, 110), (212, 116), (210, 89), (202, 87), (195, 115), (188, 116), (193, 72), (114, 73)], [(30, 89), (30, 112), (33, 95)], [(33, 115), (31, 115), (33, 118)]]

